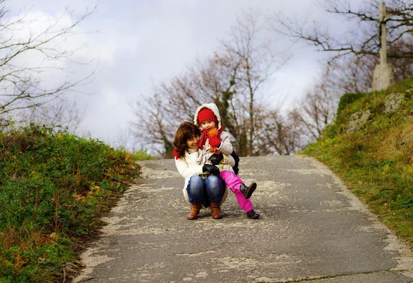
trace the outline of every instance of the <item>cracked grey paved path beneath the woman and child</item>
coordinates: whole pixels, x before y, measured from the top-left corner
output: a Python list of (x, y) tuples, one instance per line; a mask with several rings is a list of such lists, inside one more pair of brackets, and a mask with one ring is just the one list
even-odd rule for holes
[(140, 165), (74, 282), (413, 282), (412, 251), (312, 158), (242, 158), (260, 220), (231, 192), (223, 219), (187, 220), (173, 160)]

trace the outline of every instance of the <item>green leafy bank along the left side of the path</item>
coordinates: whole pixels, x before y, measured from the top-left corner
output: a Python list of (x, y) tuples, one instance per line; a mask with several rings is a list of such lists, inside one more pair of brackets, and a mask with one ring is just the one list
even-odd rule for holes
[(137, 176), (135, 161), (47, 127), (0, 134), (0, 282), (70, 281), (79, 244)]

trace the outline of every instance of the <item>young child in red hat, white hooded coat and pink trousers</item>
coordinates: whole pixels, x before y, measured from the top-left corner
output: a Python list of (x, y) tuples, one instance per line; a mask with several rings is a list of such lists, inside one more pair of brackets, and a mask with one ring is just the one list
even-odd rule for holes
[(208, 103), (198, 107), (195, 112), (194, 122), (195, 125), (202, 129), (198, 164), (217, 165), (220, 168), (220, 177), (231, 191), (235, 193), (238, 205), (244, 209), (246, 216), (251, 219), (260, 218), (260, 214), (254, 211), (251, 200), (249, 200), (257, 184), (253, 182), (247, 187), (232, 169), (229, 170), (228, 167), (224, 168), (223, 166), (226, 164), (227, 159), (223, 158), (223, 156), (231, 156), (233, 146), (230, 134), (222, 130), (221, 116), (217, 105)]

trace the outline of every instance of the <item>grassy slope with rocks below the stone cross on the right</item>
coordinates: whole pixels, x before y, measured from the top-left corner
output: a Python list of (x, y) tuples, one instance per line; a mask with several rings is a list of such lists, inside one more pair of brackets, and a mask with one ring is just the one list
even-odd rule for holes
[[(403, 92), (395, 112), (385, 114), (385, 96)], [(326, 163), (396, 235), (413, 247), (413, 78), (386, 92), (346, 94), (335, 123), (304, 154)], [(351, 114), (370, 110), (355, 134), (344, 131)]]

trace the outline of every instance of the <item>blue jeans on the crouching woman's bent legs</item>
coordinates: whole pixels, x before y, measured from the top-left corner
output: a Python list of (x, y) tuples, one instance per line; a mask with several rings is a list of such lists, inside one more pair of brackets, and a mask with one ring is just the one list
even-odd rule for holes
[(189, 202), (201, 202), (204, 207), (209, 207), (209, 202), (221, 202), (225, 192), (224, 181), (215, 175), (203, 179), (193, 175), (187, 187)]

